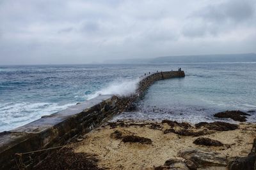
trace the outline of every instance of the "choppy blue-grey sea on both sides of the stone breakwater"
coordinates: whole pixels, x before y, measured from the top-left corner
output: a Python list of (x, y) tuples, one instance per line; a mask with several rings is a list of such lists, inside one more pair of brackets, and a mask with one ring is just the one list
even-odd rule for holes
[(0, 132), (100, 94), (129, 95), (144, 73), (178, 67), (185, 78), (157, 81), (138, 110), (115, 120), (201, 122), (214, 120), (216, 111), (256, 110), (256, 62), (0, 66)]

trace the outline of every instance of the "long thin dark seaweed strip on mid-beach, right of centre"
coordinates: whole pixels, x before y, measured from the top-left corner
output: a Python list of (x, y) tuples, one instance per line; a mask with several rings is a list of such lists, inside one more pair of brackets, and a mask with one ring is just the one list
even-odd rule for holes
[(207, 131), (206, 129), (202, 130), (202, 131), (192, 131), (192, 130), (188, 130), (188, 129), (180, 129), (180, 130), (175, 130), (175, 129), (166, 129), (164, 130), (164, 134), (168, 134), (168, 133), (175, 133), (175, 134), (179, 134), (180, 136), (202, 136), (205, 134), (212, 134), (212, 131)]

